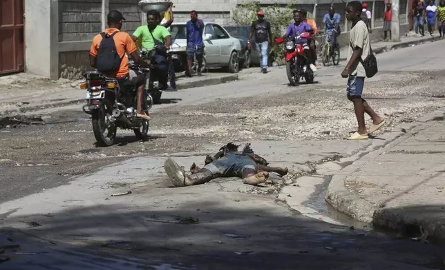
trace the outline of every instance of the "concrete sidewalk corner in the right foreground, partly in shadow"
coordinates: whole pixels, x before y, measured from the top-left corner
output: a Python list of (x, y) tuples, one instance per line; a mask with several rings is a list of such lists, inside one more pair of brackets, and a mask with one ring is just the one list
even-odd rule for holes
[(335, 175), (327, 203), (377, 227), (445, 240), (444, 112)]

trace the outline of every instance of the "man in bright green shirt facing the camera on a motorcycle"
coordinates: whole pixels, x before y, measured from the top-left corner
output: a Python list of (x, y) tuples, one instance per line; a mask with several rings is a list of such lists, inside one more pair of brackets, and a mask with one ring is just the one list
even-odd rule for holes
[(142, 25), (136, 29), (131, 38), (133, 41), (142, 39), (142, 47), (147, 50), (153, 49), (155, 45), (162, 45), (163, 50), (158, 50), (151, 61), (157, 65), (157, 72), (160, 87), (162, 90), (167, 89), (167, 50), (171, 45), (171, 34), (164, 28), (164, 26), (158, 25), (160, 21), (160, 13), (156, 10), (151, 10), (146, 14), (147, 25)]

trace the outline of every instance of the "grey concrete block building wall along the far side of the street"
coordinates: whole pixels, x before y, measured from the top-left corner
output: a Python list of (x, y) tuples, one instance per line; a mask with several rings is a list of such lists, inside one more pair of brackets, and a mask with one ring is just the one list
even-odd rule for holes
[[(130, 34), (145, 23), (145, 16), (139, 9), (139, 0), (3, 0), (24, 1), (24, 67), (26, 72), (46, 76), (80, 79), (89, 70), (88, 50), (95, 34), (106, 27), (106, 14), (109, 10), (120, 10), (126, 22), (123, 30)], [(233, 24), (233, 10), (242, 0), (172, 0), (175, 21), (189, 20), (191, 10), (198, 11), (205, 21)], [(399, 20), (408, 30), (408, 1), (400, 0)], [(277, 3), (287, 5), (290, 0), (259, 0), (261, 6)], [(305, 8), (321, 24), (323, 15), (332, 4), (342, 15), (342, 32), (349, 29), (345, 22), (345, 1), (342, 0), (298, 0), (296, 8)], [(384, 0), (366, 1), (368, 9), (375, 14), (373, 28), (381, 28), (385, 8)], [(378, 31), (376, 31), (378, 33)], [(373, 32), (374, 35), (374, 32)], [(374, 39), (379, 39), (375, 36)]]

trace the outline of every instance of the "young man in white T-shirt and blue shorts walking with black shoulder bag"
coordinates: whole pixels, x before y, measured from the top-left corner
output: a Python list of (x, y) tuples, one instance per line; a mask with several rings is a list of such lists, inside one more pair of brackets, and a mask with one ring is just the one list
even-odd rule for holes
[[(363, 85), (365, 83), (366, 72), (362, 65), (366, 56), (370, 54), (370, 37), (366, 24), (361, 21), (361, 3), (359, 1), (349, 2), (346, 6), (346, 19), (352, 22), (352, 28), (349, 34), (349, 53), (348, 63), (345, 66), (341, 76), (348, 78), (348, 84), (346, 85), (346, 91), (348, 93), (348, 99), (354, 103), (355, 116), (357, 117), (357, 123), (359, 128), (357, 132), (350, 135), (348, 140), (363, 140), (369, 138), (369, 135), (376, 132), (377, 129), (382, 127), (385, 123), (384, 119), (376, 114), (370, 105), (361, 98), (363, 93)], [(366, 130), (365, 124), (365, 112), (371, 116), (372, 125), (370, 130)]]

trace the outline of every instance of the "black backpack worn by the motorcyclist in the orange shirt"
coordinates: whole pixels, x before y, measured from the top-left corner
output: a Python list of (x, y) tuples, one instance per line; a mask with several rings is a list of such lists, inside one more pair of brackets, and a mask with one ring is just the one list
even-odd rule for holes
[(117, 53), (116, 44), (114, 42), (114, 32), (111, 35), (105, 32), (102, 35), (102, 41), (99, 45), (99, 52), (97, 52), (96, 69), (98, 72), (117, 72), (122, 62), (122, 58)]

